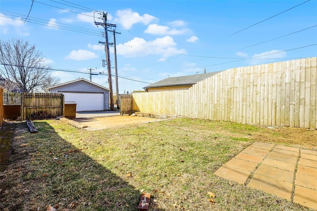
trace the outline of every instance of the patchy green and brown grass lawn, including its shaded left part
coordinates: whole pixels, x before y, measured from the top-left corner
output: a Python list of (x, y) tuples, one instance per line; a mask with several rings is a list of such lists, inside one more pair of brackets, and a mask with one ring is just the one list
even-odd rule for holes
[(317, 131), (186, 118), (99, 131), (34, 124), (31, 134), (16, 123), (0, 210), (136, 211), (141, 192), (149, 211), (309, 210), (213, 172), (256, 141), (317, 150)]

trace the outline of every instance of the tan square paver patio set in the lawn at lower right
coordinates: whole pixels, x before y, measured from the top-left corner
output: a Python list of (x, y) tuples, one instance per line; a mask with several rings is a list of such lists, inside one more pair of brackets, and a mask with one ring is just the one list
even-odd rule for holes
[(317, 210), (317, 151), (256, 142), (214, 174)]

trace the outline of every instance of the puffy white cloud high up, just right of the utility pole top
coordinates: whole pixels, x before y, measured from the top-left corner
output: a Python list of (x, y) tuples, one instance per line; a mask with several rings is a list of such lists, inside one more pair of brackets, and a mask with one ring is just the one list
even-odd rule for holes
[(158, 19), (152, 15), (144, 14), (140, 15), (138, 12), (133, 12), (132, 9), (117, 10), (117, 18), (114, 19), (115, 22), (121, 24), (124, 29), (131, 29), (133, 24), (143, 23), (148, 25), (152, 21)]

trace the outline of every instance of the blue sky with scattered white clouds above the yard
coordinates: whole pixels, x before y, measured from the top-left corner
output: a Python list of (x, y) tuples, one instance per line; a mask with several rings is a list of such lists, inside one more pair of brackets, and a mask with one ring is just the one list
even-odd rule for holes
[[(60, 82), (89, 79), (87, 68), (107, 73), (99, 44), (105, 41), (104, 28), (94, 24), (94, 11), (105, 11), (121, 33), (116, 35), (121, 94), (205, 68), (213, 72), (317, 56), (317, 45), (311, 46), (317, 44), (317, 0), (305, 1), (34, 0), (30, 9), (32, 0), (1, 0), (0, 39), (28, 41), (53, 69), (80, 72), (52, 70)], [(95, 13), (102, 21), (98, 17)], [(114, 76), (112, 48), (110, 59)], [(92, 81), (108, 87), (107, 75), (93, 75)], [(113, 77), (115, 90), (114, 84)]]

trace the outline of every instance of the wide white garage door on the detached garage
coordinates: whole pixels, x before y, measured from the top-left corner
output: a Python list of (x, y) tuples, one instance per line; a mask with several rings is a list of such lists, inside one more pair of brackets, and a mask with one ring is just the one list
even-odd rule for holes
[(65, 104), (75, 102), (76, 111), (104, 110), (104, 94), (63, 93)]

